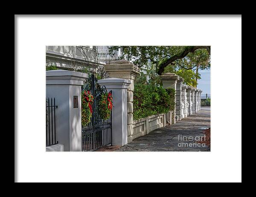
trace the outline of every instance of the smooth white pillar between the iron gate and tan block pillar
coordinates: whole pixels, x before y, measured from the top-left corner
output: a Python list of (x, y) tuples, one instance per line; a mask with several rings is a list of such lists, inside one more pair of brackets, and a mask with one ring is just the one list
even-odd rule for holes
[(112, 144), (125, 145), (128, 143), (127, 131), (127, 90), (131, 81), (123, 78), (107, 78), (98, 80), (98, 84), (112, 90)]

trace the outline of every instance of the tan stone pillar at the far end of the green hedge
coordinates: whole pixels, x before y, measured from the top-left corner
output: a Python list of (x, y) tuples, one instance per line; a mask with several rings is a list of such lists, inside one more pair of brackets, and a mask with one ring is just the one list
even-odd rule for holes
[[(160, 76), (162, 83), (163, 83), (163, 88), (168, 89), (172, 88), (175, 90), (175, 106), (174, 106), (174, 111), (172, 112), (172, 117), (171, 118), (171, 123), (175, 124), (176, 123), (176, 91), (177, 91), (177, 80), (180, 79), (179, 75), (176, 75), (175, 73), (164, 73), (163, 75)], [(167, 115), (167, 114), (166, 114)], [(168, 116), (168, 115), (167, 115)], [(166, 119), (169, 119), (169, 117), (166, 117)]]

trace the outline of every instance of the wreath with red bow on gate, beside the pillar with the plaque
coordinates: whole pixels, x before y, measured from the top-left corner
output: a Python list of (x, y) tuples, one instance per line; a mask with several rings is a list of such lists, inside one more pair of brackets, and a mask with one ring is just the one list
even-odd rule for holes
[(93, 114), (93, 96), (90, 91), (84, 90), (84, 92), (82, 92), (81, 101), (81, 122), (82, 126), (85, 127), (90, 123)]

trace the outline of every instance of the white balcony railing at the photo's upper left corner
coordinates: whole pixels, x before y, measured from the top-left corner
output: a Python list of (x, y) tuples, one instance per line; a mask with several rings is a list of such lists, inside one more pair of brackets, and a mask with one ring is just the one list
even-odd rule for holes
[(96, 54), (95, 49), (86, 46), (47, 46), (46, 52), (85, 60), (94, 60)]

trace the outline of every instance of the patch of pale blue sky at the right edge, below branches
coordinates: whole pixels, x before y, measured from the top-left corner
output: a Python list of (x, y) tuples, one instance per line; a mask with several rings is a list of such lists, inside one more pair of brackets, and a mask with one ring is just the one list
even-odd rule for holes
[(199, 70), (201, 74), (201, 79), (198, 80), (197, 87), (203, 90), (202, 94), (210, 94), (211, 93), (211, 72), (208, 70)]

